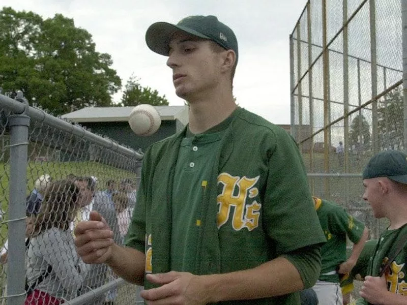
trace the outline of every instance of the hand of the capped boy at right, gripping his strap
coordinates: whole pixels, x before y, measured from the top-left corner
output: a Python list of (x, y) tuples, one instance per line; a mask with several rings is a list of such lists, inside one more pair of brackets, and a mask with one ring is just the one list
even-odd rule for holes
[(362, 289), (359, 292), (360, 296), (365, 298), (372, 304), (383, 304), (386, 299), (387, 283), (386, 278), (366, 276), (363, 282)]

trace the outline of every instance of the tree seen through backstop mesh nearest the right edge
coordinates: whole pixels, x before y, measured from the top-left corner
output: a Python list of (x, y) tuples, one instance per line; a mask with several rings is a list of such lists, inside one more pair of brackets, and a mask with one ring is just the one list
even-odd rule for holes
[(403, 148), (403, 108), (401, 87), (392, 90), (379, 101), (377, 105), (377, 127), (381, 136), (381, 148)]

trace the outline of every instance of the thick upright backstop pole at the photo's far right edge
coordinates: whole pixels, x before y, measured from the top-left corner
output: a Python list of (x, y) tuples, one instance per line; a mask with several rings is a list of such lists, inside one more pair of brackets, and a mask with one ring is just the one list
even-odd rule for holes
[(403, 149), (407, 150), (407, 0), (401, 0), (401, 25), (403, 29)]

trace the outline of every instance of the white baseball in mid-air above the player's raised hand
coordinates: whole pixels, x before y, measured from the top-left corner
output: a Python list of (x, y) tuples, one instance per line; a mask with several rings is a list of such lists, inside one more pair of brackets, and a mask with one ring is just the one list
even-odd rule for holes
[(150, 136), (160, 128), (161, 117), (154, 106), (141, 104), (131, 111), (129, 125), (136, 135)]

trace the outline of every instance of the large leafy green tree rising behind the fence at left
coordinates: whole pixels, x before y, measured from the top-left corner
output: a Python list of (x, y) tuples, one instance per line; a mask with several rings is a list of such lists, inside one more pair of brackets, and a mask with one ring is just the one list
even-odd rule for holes
[(92, 35), (56, 14), (0, 11), (0, 87), (22, 90), (30, 103), (53, 114), (112, 105), (121, 88), (111, 56), (95, 50)]

